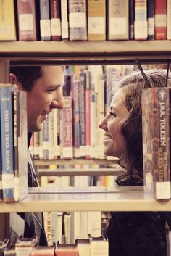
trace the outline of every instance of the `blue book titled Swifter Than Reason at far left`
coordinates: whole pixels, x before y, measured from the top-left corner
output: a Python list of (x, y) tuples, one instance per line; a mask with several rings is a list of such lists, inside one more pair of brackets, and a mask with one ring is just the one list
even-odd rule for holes
[(10, 86), (0, 88), (1, 104), (1, 171), (4, 202), (14, 202), (14, 144), (12, 122), (12, 91)]

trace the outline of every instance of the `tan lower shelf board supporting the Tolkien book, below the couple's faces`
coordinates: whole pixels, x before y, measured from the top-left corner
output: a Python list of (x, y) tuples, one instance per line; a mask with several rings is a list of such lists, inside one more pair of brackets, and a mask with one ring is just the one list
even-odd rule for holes
[(0, 212), (171, 211), (170, 200), (158, 202), (143, 187), (30, 188), (22, 202), (0, 206)]

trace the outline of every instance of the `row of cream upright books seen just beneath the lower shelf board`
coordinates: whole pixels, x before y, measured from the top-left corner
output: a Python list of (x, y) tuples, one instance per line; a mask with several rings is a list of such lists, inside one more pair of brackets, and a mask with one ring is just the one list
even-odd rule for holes
[(48, 244), (73, 244), (76, 239), (99, 237), (109, 226), (109, 212), (45, 212), (44, 223)]

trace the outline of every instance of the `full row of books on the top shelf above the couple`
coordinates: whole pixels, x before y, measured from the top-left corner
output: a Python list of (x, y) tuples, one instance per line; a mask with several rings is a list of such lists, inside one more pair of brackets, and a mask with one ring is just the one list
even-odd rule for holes
[(1, 41), (170, 40), (170, 0), (0, 1)]

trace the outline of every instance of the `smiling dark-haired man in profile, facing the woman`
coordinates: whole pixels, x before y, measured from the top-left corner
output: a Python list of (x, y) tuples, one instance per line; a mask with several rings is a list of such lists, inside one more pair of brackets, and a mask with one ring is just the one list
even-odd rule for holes
[[(47, 115), (54, 109), (64, 107), (62, 83), (64, 66), (11, 67), (10, 83), (27, 94), (28, 147), (32, 133), (41, 131)], [(28, 150), (28, 186), (38, 186), (36, 168)], [(14, 243), (17, 237), (38, 236), (38, 244), (46, 245), (41, 212), (12, 214), (10, 221), (10, 239)]]

